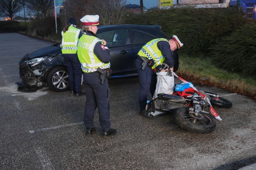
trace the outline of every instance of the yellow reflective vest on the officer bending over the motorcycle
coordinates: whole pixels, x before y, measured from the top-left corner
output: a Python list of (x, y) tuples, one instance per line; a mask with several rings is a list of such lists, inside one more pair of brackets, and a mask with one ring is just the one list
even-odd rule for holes
[(154, 60), (155, 64), (154, 66), (152, 66), (152, 68), (155, 68), (156, 66), (162, 64), (165, 59), (162, 55), (162, 52), (157, 47), (158, 41), (166, 41), (169, 43), (169, 41), (164, 38), (153, 39), (145, 44), (138, 53), (138, 55), (141, 57), (147, 57), (149, 60)]

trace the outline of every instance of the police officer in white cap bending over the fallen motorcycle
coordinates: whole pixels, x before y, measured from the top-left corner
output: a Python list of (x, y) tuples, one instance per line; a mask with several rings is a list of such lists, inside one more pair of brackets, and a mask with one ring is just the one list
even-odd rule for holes
[(149, 41), (137, 54), (135, 65), (139, 74), (139, 107), (141, 115), (153, 117), (145, 110), (149, 92), (153, 96), (156, 89), (156, 73), (153, 69), (165, 71), (161, 64), (166, 59), (169, 68), (173, 71), (172, 51), (182, 46), (183, 44), (179, 41), (178, 37), (173, 35), (173, 38), (169, 40), (159, 38)]

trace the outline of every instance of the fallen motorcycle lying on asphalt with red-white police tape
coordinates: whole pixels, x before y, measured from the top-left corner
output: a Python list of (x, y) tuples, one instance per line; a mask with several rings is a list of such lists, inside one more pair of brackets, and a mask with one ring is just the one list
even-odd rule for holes
[[(181, 79), (183, 84), (189, 83), (174, 72), (171, 75)], [(147, 113), (159, 115), (174, 112), (173, 120), (182, 128), (196, 133), (213, 132), (216, 127), (215, 118), (222, 120), (213, 106), (230, 108), (232, 102), (219, 97), (218, 94), (197, 90), (192, 83), (189, 83), (187, 91), (187, 94), (186, 89), (183, 94), (177, 91), (173, 94), (157, 94), (158, 97), (147, 104)]]

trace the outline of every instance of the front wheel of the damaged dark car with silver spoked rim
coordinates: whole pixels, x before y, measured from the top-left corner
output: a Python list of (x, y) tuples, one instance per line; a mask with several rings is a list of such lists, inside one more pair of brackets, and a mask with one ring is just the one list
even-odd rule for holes
[(63, 92), (69, 89), (68, 69), (65, 66), (52, 68), (47, 74), (47, 85), (55, 92)]

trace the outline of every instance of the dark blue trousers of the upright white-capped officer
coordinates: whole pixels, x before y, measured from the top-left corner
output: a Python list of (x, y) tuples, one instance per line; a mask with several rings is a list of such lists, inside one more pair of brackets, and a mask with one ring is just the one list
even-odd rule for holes
[(100, 74), (98, 72), (83, 73), (83, 80), (86, 88), (86, 104), (84, 123), (87, 128), (93, 127), (95, 109), (98, 107), (99, 121), (102, 129), (110, 130), (110, 89), (107, 78), (104, 85), (100, 84)]

